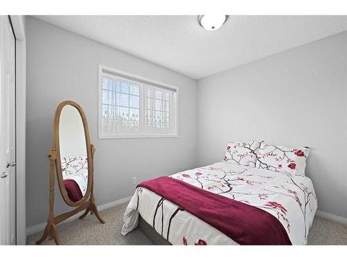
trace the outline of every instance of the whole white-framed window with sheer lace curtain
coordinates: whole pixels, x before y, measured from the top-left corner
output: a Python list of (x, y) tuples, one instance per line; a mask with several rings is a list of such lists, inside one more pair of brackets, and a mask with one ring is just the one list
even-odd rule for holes
[(176, 137), (177, 89), (99, 65), (99, 138)]

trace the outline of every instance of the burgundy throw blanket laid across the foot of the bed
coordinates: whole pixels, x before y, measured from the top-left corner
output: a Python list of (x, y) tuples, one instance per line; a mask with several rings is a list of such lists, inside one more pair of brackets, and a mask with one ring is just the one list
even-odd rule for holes
[(142, 182), (137, 187), (173, 202), (240, 245), (291, 245), (280, 221), (257, 207), (167, 176)]

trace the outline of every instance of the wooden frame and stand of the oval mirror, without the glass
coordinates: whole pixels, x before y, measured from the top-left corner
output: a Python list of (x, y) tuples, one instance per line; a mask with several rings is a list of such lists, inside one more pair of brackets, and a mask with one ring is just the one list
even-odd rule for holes
[[(88, 183), (87, 183), (87, 191), (85, 191), (85, 196), (78, 202), (73, 202), (70, 200), (69, 196), (67, 196), (67, 191), (65, 189), (65, 185), (62, 179), (62, 168), (60, 162), (60, 144), (59, 144), (59, 123), (60, 123), (60, 114), (62, 112), (62, 108), (65, 105), (72, 105), (76, 107), (78, 112), (81, 115), (81, 119), (83, 121), (83, 128), (85, 130), (85, 144), (87, 147), (87, 162), (88, 162)], [(88, 213), (94, 214), (96, 218), (101, 222), (105, 223), (105, 221), (99, 215), (99, 211), (95, 204), (94, 199), (94, 153), (95, 148), (92, 144), (90, 144), (90, 135), (88, 130), (87, 119), (85, 117), (85, 113), (80, 105), (78, 105), (74, 101), (63, 101), (60, 103), (56, 109), (56, 114), (54, 116), (53, 122), (53, 147), (49, 150), (49, 219), (47, 220), (47, 225), (44, 229), (44, 234), (42, 238), (36, 242), (37, 245), (40, 245), (47, 236), (49, 236), (49, 240), (54, 239), (57, 245), (60, 245), (60, 239), (58, 237), (58, 233), (56, 231), (56, 225), (66, 220), (67, 218), (74, 216), (80, 211), (85, 209), (85, 213), (81, 215), (79, 218), (82, 219), (87, 216)], [(54, 217), (54, 171), (56, 170), (57, 179), (59, 184), (60, 193), (62, 198), (67, 203), (67, 205), (71, 207), (77, 207), (76, 209), (69, 211), (64, 214), (60, 214), (59, 216)], [(88, 200), (89, 197), (89, 200)]]

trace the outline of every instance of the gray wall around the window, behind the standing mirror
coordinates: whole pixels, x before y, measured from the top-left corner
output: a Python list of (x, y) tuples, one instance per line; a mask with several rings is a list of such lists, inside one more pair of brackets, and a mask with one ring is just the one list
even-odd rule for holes
[[(49, 160), (53, 116), (58, 103), (79, 103), (96, 146), (96, 202), (103, 205), (133, 194), (137, 182), (195, 165), (196, 80), (33, 17), (27, 18), (26, 226), (48, 217)], [(178, 137), (98, 139), (98, 64), (174, 85), (179, 89)], [(56, 189), (56, 214), (71, 208)]]

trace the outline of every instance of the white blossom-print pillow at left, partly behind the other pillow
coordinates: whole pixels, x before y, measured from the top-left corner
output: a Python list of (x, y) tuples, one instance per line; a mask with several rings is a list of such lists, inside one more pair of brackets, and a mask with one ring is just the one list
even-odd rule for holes
[(258, 141), (249, 143), (230, 142), (226, 145), (226, 156), (223, 162), (254, 168), (257, 159), (257, 148), (259, 148)]

